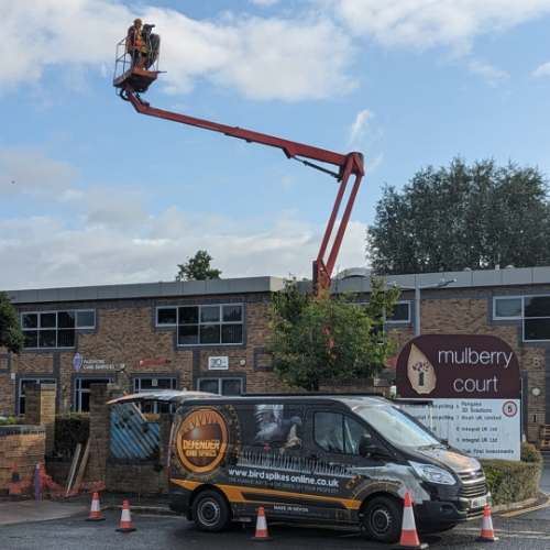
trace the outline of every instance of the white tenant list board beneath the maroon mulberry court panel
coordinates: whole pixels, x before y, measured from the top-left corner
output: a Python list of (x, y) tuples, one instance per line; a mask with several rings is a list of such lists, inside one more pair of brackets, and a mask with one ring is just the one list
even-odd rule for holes
[(399, 404), (450, 446), (476, 459), (519, 460), (519, 399), (432, 399)]

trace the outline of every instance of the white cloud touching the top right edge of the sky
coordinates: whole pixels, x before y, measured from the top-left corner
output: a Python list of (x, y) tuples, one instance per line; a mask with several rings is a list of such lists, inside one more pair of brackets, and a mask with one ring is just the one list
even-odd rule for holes
[(550, 13), (548, 0), (310, 0), (333, 9), (356, 36), (386, 47), (465, 52), (475, 36)]

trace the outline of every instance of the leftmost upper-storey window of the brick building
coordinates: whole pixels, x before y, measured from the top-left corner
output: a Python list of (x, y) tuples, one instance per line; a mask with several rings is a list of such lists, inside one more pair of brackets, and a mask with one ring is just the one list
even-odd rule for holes
[(96, 311), (41, 311), (21, 314), (25, 349), (74, 348), (76, 329), (94, 329)]

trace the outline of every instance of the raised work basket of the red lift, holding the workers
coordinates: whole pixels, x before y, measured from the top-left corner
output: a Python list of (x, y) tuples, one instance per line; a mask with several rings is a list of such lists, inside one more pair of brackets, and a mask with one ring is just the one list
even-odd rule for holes
[(161, 36), (148, 32), (144, 33), (144, 38), (146, 43), (146, 54), (140, 56), (138, 63), (134, 63), (132, 52), (128, 47), (128, 37), (122, 38), (117, 44), (117, 59), (114, 63), (114, 78), (112, 85), (119, 89), (118, 95), (122, 99), (127, 99), (125, 90), (129, 86), (131, 86), (134, 91), (144, 94), (158, 76)]

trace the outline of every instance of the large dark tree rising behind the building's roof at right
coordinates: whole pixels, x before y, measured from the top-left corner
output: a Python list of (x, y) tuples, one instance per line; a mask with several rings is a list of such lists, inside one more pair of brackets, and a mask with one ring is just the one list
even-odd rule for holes
[(380, 275), (549, 265), (548, 180), (493, 160), (422, 168), (402, 193), (384, 188), (366, 254)]

